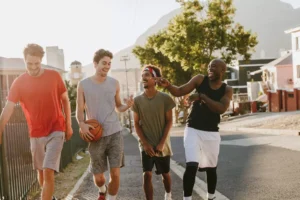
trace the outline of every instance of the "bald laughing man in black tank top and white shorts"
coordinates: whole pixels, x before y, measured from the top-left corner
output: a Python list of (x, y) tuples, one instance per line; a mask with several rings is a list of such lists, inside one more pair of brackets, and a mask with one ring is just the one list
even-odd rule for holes
[(165, 79), (158, 84), (176, 97), (196, 92), (189, 97), (193, 104), (184, 130), (186, 170), (183, 176), (184, 200), (192, 199), (197, 170), (206, 171), (207, 198), (215, 199), (217, 185), (217, 164), (220, 149), (218, 124), (220, 114), (229, 107), (232, 88), (222, 82), (226, 72), (223, 60), (214, 59), (208, 65), (208, 76), (197, 75), (188, 83), (177, 87)]

